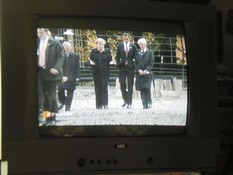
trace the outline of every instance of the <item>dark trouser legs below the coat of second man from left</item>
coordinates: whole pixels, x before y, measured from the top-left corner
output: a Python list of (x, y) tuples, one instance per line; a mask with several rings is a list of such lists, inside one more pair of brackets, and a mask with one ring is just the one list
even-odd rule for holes
[(71, 103), (73, 101), (74, 90), (73, 89), (65, 89), (62, 87), (58, 88), (58, 101), (65, 105), (66, 110), (70, 110)]

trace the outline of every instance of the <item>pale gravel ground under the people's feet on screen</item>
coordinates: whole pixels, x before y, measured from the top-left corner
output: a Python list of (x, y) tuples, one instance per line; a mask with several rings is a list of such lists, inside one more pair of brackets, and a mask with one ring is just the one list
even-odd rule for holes
[[(154, 98), (150, 109), (142, 109), (138, 92), (134, 93), (131, 109), (122, 108), (119, 90), (109, 89), (109, 108), (95, 109), (93, 87), (77, 88), (71, 111), (57, 114), (56, 126), (84, 125), (178, 125), (186, 123), (187, 92), (179, 97)], [(40, 120), (41, 121), (41, 120)]]

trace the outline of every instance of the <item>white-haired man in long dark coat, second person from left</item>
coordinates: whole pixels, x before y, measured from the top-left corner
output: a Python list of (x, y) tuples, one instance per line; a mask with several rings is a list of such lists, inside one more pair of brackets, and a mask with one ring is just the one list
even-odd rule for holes
[(80, 80), (80, 63), (79, 55), (72, 52), (71, 43), (63, 43), (65, 49), (65, 61), (63, 64), (64, 76), (58, 85), (58, 101), (60, 102), (59, 110), (65, 105), (65, 110), (71, 110), (76, 82)]

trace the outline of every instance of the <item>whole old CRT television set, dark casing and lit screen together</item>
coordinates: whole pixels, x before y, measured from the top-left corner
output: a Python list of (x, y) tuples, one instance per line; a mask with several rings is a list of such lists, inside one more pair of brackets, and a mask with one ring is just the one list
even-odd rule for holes
[(215, 168), (214, 6), (3, 0), (1, 15), (10, 175)]

